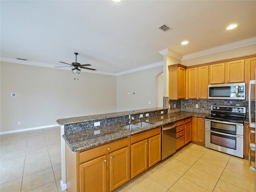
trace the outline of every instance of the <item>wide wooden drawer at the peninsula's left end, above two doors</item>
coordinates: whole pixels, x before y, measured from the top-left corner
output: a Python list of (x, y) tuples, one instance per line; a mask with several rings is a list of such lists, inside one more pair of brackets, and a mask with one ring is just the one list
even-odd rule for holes
[(115, 150), (124, 148), (129, 145), (129, 138), (124, 138), (122, 140), (118, 140), (115, 142), (111, 142), (84, 152), (79, 153), (79, 162), (83, 163), (89, 160), (92, 160), (94, 158), (97, 158), (99, 156), (102, 156), (104, 154), (113, 152)]

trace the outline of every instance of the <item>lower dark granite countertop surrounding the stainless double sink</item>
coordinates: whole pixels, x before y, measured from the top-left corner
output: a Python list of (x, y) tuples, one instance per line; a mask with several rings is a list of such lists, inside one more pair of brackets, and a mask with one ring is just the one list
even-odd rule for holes
[[(161, 110), (162, 108), (154, 108), (155, 110)], [(145, 111), (145, 110), (144, 110)], [(147, 109), (148, 111), (148, 109)], [(142, 110), (136, 110), (134, 113), (142, 112)], [(122, 115), (124, 115), (124, 112)], [(129, 113), (130, 114), (130, 113)], [(142, 118), (141, 121), (146, 121), (154, 123), (146, 128), (139, 128), (134, 131), (129, 131), (123, 126), (128, 123), (120, 123), (112, 126), (105, 126), (101, 128), (93, 128), (90, 130), (85, 130), (81, 132), (64, 134), (62, 137), (67, 142), (68, 146), (71, 148), (72, 152), (78, 152), (80, 150), (88, 149), (94, 146), (105, 144), (114, 140), (128, 137), (130, 135), (138, 134), (146, 130), (150, 130), (168, 123), (176, 122), (191, 116), (205, 117), (209, 114), (196, 113), (196, 112), (175, 112), (166, 115), (152, 116), (149, 118)], [(104, 115), (99, 115), (103, 117)], [(106, 114), (108, 116), (108, 114)], [(105, 116), (105, 118), (106, 118)], [(78, 120), (79, 118), (77, 118)], [(81, 119), (80, 119), (81, 120)], [(59, 122), (64, 123), (64, 120), (59, 120)], [(138, 120), (134, 120), (131, 123), (136, 123)], [(100, 134), (94, 135), (95, 130), (100, 130)]]

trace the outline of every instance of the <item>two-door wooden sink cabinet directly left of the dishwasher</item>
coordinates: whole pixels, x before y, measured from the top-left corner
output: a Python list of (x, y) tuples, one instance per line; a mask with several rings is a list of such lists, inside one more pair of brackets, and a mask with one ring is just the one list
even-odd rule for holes
[(131, 136), (131, 178), (161, 160), (161, 128)]

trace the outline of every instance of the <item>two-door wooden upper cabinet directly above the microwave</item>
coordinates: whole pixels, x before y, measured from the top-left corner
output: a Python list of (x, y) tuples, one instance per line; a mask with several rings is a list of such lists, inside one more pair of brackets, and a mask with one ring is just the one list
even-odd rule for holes
[(244, 82), (244, 59), (210, 65), (210, 84)]

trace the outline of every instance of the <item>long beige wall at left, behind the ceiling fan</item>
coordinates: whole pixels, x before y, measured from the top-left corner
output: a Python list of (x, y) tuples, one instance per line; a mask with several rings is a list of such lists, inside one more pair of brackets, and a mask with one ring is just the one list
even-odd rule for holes
[(116, 76), (9, 62), (1, 62), (0, 68), (1, 132), (54, 125), (67, 116), (116, 112)]

